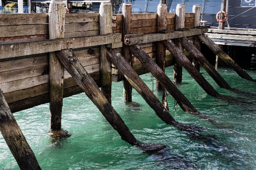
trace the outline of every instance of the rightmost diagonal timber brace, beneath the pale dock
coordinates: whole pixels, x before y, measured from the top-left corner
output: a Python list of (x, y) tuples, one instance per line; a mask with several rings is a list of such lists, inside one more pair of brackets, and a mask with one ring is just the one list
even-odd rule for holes
[(253, 78), (247, 74), (235, 61), (232, 60), (224, 51), (222, 51), (209, 37), (206, 35), (198, 35), (198, 38), (205, 43), (221, 60), (229, 65), (241, 78), (253, 81)]

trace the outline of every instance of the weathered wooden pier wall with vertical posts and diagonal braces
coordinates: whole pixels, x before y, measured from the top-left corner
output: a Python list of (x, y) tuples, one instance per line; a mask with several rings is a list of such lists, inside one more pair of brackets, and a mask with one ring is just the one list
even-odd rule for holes
[[(195, 67), (196, 62), (207, 65), (217, 84), (223, 83), (201, 55), (199, 40), (211, 46), (242, 78), (254, 81), (207, 37), (207, 27), (198, 25), (198, 6), (193, 13), (185, 13), (183, 4), (179, 4), (176, 13), (167, 13), (161, 1), (157, 13), (131, 14), (131, 4), (125, 3), (123, 14), (113, 15), (111, 3), (102, 3), (99, 13), (65, 14), (62, 0), (51, 2), (49, 14), (0, 17), (0, 130), (20, 169), (40, 167), (12, 112), (50, 103), (50, 128), (59, 130), (63, 98), (81, 92), (123, 140), (145, 151), (163, 149), (162, 145), (138, 141), (130, 132), (111, 105), (111, 80), (124, 82), (124, 101), (131, 101), (134, 88), (161, 120), (198, 135), (195, 131), (203, 128), (175, 121), (138, 75), (151, 72), (159, 83), (157, 88), (166, 89), (185, 112), (206, 118), (164, 73), (165, 67), (177, 64), (176, 76), (181, 77), (183, 67), (208, 95), (218, 97)], [(189, 53), (194, 65), (186, 57)], [(10, 123), (16, 125), (8, 126)], [(12, 144), (8, 136), (17, 142)], [(26, 144), (22, 151), (26, 158), (13, 149), (20, 148), (19, 142)]]

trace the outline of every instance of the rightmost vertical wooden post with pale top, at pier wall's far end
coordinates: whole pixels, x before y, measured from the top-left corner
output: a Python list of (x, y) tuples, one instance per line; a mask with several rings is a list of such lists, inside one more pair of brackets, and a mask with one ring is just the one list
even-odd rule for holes
[[(200, 26), (200, 5), (193, 5), (193, 13), (194, 13), (194, 28), (196, 28), (197, 26)], [(198, 39), (197, 36), (193, 37), (193, 43), (194, 46), (201, 51), (200, 48), (200, 40)], [(193, 61), (192, 64), (195, 66), (195, 68), (199, 71), (200, 70), (200, 64), (198, 63), (197, 59), (195, 57), (193, 57)]]

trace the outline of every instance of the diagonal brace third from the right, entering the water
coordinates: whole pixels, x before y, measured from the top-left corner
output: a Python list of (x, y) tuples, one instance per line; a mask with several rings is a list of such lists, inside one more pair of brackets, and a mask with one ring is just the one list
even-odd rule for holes
[(200, 74), (200, 72), (195, 69), (195, 66), (189, 61), (186, 55), (180, 51), (180, 49), (173, 43), (171, 40), (164, 40), (163, 44), (166, 46), (173, 56), (179, 61), (182, 66), (189, 72), (192, 78), (207, 92), (208, 95), (217, 97), (219, 94), (218, 92), (208, 83), (207, 80)]

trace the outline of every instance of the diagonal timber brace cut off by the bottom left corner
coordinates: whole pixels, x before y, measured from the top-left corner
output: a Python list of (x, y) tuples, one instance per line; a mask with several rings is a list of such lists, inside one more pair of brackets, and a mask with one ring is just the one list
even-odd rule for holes
[(20, 170), (41, 170), (0, 89), (0, 131)]

